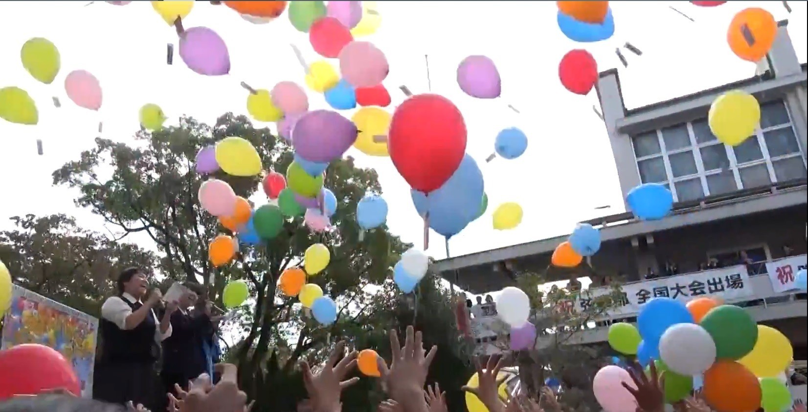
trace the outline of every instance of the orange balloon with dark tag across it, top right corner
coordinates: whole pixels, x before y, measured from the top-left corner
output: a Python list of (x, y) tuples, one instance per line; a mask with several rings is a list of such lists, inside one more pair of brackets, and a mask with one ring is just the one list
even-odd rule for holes
[(772, 48), (777, 36), (777, 22), (766, 10), (751, 7), (739, 11), (726, 31), (726, 42), (743, 60), (757, 63)]

